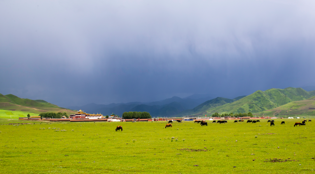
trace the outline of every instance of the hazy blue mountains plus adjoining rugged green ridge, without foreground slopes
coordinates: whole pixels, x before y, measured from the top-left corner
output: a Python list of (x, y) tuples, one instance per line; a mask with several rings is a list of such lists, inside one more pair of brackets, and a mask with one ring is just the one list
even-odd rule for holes
[[(102, 113), (109, 115), (115, 113), (122, 115), (129, 111), (146, 111), (153, 117), (182, 117), (204, 116), (213, 113), (254, 113), (277, 108), (281, 105), (305, 100), (315, 95), (314, 91), (307, 92), (302, 88), (288, 87), (285, 89), (268, 89), (256, 91), (249, 96), (240, 96), (234, 99), (212, 98), (211, 94), (194, 94), (187, 98), (172, 97), (165, 100), (141, 103), (112, 103), (109, 105), (97, 105), (90, 103), (81, 107), (68, 107), (70, 109), (84, 109), (87, 113)], [(199, 98), (201, 97), (201, 98)]]

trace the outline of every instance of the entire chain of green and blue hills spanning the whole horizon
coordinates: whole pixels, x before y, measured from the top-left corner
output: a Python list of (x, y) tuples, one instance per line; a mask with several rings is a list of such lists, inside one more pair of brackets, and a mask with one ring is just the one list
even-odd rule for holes
[[(309, 89), (312, 89), (311, 87)], [(222, 113), (248, 113), (255, 115), (315, 115), (315, 91), (288, 87), (285, 89), (268, 89), (256, 91), (248, 96), (234, 99), (217, 97), (212, 94), (194, 94), (186, 98), (172, 97), (165, 100), (142, 103), (90, 103), (84, 106), (61, 108), (44, 100), (23, 99), (12, 94), (0, 94), (0, 109), (27, 111), (29, 113), (66, 112), (68, 115), (82, 109), (86, 113), (111, 113), (121, 116), (124, 112), (149, 112), (152, 117), (199, 117)]]

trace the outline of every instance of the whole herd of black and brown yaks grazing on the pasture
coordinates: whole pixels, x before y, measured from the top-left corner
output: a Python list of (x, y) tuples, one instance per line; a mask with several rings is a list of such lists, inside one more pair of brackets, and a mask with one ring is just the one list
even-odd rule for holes
[[(181, 120), (176, 120), (177, 122), (179, 122), (179, 123), (181, 123)], [(237, 123), (237, 122), (243, 122), (244, 120), (235, 120), (234, 121), (234, 123)], [(312, 121), (312, 120), (308, 120), (309, 122), (310, 121)], [(260, 120), (247, 120), (247, 122), (246, 123), (257, 123), (257, 122), (260, 122)], [(267, 121), (267, 123), (269, 123), (270, 122), (270, 126), (274, 126), (275, 124), (274, 124), (274, 120), (268, 120)], [(304, 121), (302, 121), (302, 123), (300, 123), (300, 122), (296, 122), (295, 124), (294, 124), (294, 127), (295, 126), (297, 126), (297, 125), (299, 125), (299, 126), (301, 126), (301, 125), (305, 125), (305, 123), (307, 122), (307, 120), (304, 120)], [(166, 125), (165, 125), (165, 128), (171, 128), (172, 127), (172, 124), (171, 123), (173, 123), (173, 121), (172, 120), (170, 120)], [(202, 121), (200, 121), (200, 120), (195, 120), (195, 122), (194, 123), (200, 123), (200, 125), (201, 126), (208, 126), (208, 123), (205, 121), (205, 120), (202, 120)], [(223, 123), (223, 124), (225, 124), (225, 123), (227, 123), (227, 121), (226, 120), (218, 120), (218, 121), (212, 121), (212, 123)], [(281, 122), (281, 124), (285, 124), (284, 123), (284, 121), (282, 121)], [(118, 131), (123, 131), (123, 126), (117, 126), (117, 128), (115, 129), (116, 131), (118, 130)]]

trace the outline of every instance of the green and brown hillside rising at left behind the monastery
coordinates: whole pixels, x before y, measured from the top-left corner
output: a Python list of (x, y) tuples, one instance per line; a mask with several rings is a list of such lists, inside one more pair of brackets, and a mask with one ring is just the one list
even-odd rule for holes
[(36, 113), (37, 115), (42, 112), (62, 112), (67, 113), (68, 115), (75, 113), (75, 111), (61, 108), (44, 100), (19, 98), (12, 94), (0, 94), (0, 109)]

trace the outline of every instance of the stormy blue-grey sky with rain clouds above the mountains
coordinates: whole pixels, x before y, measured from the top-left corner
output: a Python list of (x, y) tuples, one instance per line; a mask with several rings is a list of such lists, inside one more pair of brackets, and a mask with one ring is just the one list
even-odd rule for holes
[(0, 93), (61, 107), (315, 85), (315, 1), (0, 1)]

